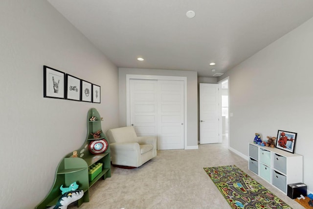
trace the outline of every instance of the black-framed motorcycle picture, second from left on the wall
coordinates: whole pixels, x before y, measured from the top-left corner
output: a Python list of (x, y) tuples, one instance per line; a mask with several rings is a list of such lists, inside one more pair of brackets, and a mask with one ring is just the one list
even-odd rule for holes
[(67, 74), (66, 81), (67, 81), (66, 82), (66, 87), (67, 87), (66, 98), (69, 100), (80, 101), (81, 100), (80, 79)]

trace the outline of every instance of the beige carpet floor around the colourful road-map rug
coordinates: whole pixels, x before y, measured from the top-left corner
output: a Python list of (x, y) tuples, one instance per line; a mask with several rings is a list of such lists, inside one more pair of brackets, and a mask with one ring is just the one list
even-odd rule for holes
[(249, 171), (248, 162), (229, 151), (225, 144), (199, 145), (197, 150), (159, 150), (156, 158), (139, 168), (112, 167), (112, 177), (93, 185), (89, 190), (90, 202), (79, 209), (231, 209), (203, 170), (231, 164), (293, 209), (304, 209)]

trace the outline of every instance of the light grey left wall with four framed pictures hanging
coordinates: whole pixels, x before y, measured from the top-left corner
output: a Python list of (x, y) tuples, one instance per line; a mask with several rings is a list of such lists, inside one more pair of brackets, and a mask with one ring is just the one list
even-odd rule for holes
[[(0, 25), (0, 208), (33, 209), (90, 108), (118, 126), (118, 69), (45, 0), (1, 0)], [(43, 65), (101, 86), (101, 104), (44, 98)]]

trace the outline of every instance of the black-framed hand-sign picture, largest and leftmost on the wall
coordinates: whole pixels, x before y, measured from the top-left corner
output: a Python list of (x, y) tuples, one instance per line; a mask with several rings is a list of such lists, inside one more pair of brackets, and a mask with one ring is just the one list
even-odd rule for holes
[(65, 98), (65, 73), (44, 65), (44, 97)]

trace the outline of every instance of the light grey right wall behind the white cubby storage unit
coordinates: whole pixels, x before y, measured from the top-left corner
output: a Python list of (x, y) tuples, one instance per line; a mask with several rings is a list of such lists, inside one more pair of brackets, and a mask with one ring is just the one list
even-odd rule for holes
[(248, 155), (254, 133), (298, 134), (295, 153), (303, 155), (304, 183), (313, 191), (313, 19), (265, 47), (229, 75), (230, 147)]

